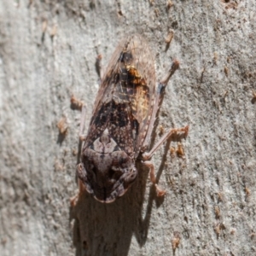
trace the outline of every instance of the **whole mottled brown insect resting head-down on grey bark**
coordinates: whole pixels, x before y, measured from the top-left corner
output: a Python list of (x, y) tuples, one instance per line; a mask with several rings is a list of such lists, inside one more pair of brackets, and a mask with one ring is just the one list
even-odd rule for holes
[(157, 85), (154, 59), (140, 35), (125, 38), (115, 49), (98, 90), (87, 135), (84, 135), (86, 110), (82, 109), (80, 139), (84, 141), (77, 166), (79, 188), (85, 188), (97, 201), (110, 203), (125, 194), (137, 177), (136, 160), (150, 169), (157, 195), (164, 195), (150, 161), (168, 137), (183, 133), (189, 126), (171, 129), (147, 151), (154, 120), (168, 80), (178, 61)]

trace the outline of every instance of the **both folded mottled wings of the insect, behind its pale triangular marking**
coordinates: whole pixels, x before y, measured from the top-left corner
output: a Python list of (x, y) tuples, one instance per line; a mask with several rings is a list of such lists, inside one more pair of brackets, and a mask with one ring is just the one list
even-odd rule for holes
[(154, 104), (154, 59), (140, 35), (115, 49), (96, 96), (85, 147), (108, 129), (126, 154), (137, 157)]

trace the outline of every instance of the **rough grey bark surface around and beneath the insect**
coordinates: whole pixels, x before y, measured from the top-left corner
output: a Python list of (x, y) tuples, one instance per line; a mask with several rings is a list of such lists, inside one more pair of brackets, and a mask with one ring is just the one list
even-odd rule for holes
[[(1, 255), (256, 255), (256, 3), (167, 2), (0, 2)], [(84, 194), (71, 208), (80, 112), (70, 98), (84, 101), (88, 125), (96, 56), (105, 67), (133, 32), (148, 40), (158, 79), (181, 63), (158, 123), (189, 125), (185, 154), (167, 143), (154, 155), (163, 200), (138, 164), (118, 201)]]

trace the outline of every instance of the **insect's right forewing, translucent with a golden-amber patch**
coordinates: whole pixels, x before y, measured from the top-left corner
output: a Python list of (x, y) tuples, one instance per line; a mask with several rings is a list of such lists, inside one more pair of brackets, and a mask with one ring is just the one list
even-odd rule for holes
[(140, 35), (134, 35), (130, 39), (130, 44), (127, 47), (127, 57), (124, 59), (128, 73), (126, 84), (128, 90), (132, 88), (132, 93), (128, 93), (132, 114), (138, 123), (134, 148), (137, 157), (148, 130), (149, 119), (154, 105), (154, 58), (147, 42)]

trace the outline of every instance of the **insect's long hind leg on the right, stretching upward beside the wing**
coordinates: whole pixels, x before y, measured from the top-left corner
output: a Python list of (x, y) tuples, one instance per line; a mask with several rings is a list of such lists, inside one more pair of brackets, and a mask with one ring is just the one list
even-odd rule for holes
[(145, 148), (148, 147), (152, 131), (154, 130), (154, 121), (156, 119), (158, 110), (160, 108), (161, 102), (162, 102), (163, 97), (165, 95), (166, 85), (168, 84), (168, 81), (171, 79), (172, 75), (177, 70), (178, 66), (179, 66), (179, 62), (177, 60), (172, 61), (172, 67), (170, 68), (170, 70), (166, 74), (166, 77), (163, 78), (160, 81), (160, 83), (158, 84), (158, 88), (157, 88), (156, 93), (155, 93), (155, 100), (154, 100), (154, 107), (153, 107), (153, 111), (152, 111), (152, 116), (151, 116), (151, 119), (150, 119), (150, 122), (149, 122), (149, 125), (148, 125), (147, 135), (146, 135), (146, 137), (144, 139), (144, 142), (143, 142), (142, 151), (144, 151)]

